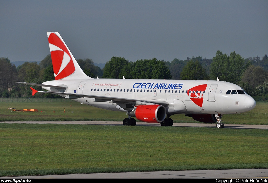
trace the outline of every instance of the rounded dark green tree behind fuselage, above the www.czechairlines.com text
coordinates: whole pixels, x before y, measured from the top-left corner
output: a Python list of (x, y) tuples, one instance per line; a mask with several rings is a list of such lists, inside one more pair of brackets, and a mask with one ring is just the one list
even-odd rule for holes
[(106, 62), (103, 68), (103, 78), (123, 78), (123, 75), (129, 75), (128, 60), (123, 57), (112, 57)]

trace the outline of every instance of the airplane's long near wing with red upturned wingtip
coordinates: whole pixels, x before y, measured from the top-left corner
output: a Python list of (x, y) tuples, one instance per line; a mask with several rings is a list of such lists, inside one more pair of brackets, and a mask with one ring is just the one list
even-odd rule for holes
[[(32, 83), (31, 83), (32, 84)], [(38, 86), (38, 85), (37, 85)], [(65, 98), (73, 99), (73, 98), (81, 98), (81, 97), (88, 97), (88, 98), (95, 98), (98, 99), (97, 101), (115, 101), (115, 102), (136, 102), (136, 101), (142, 101), (142, 102), (149, 102), (154, 104), (163, 105), (166, 107), (169, 105), (168, 102), (165, 101), (150, 101), (150, 100), (138, 100), (138, 99), (129, 99), (129, 98), (117, 98), (117, 97), (109, 97), (109, 96), (97, 96), (97, 95), (85, 95), (85, 94), (73, 94), (73, 93), (64, 93), (64, 92), (50, 92), (50, 91), (37, 91), (30, 87), (32, 89), (32, 95), (34, 95), (37, 92), (40, 93), (51, 93), (51, 94), (57, 94), (57, 95), (66, 95)]]

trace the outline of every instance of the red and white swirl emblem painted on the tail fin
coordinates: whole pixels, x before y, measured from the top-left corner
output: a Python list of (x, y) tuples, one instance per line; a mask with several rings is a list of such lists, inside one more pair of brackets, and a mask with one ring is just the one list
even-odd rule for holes
[(54, 45), (53, 49), (50, 47), (50, 54), (55, 79), (62, 79), (73, 74), (75, 72), (75, 66), (64, 42), (55, 33), (51, 33), (48, 40), (49, 44)]

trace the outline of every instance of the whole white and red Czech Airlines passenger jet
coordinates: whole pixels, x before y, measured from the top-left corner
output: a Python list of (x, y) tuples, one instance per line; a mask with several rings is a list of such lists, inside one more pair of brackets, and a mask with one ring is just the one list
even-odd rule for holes
[(233, 83), (206, 80), (162, 79), (95, 79), (88, 77), (76, 62), (58, 32), (47, 32), (54, 70), (54, 81), (42, 84), (47, 91), (37, 92), (59, 96), (102, 109), (123, 111), (128, 118), (123, 125), (136, 125), (137, 120), (172, 126), (170, 116), (185, 114), (196, 121), (216, 123), (224, 128), (224, 114), (249, 111), (256, 101)]

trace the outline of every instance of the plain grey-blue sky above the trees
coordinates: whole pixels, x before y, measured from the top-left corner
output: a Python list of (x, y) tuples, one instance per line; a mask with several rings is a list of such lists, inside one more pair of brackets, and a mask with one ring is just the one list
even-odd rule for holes
[(76, 59), (106, 63), (157, 58), (244, 58), (268, 54), (268, 1), (1, 1), (0, 57), (40, 61), (48, 31), (61, 34)]

